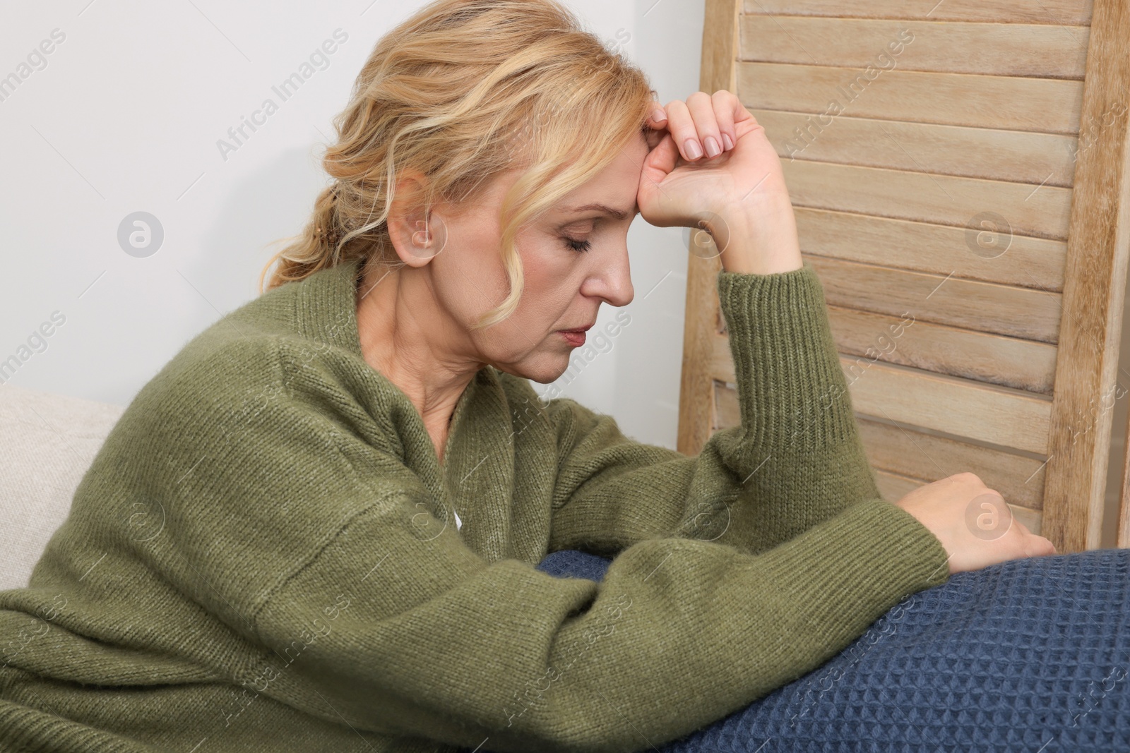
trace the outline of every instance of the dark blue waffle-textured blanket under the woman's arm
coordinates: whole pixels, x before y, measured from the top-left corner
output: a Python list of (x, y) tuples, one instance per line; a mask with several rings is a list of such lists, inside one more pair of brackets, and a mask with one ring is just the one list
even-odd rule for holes
[[(538, 569), (601, 580), (609, 563), (566, 550)], [(954, 573), (812, 672), (641, 750), (1130, 751), (1130, 549)]]

